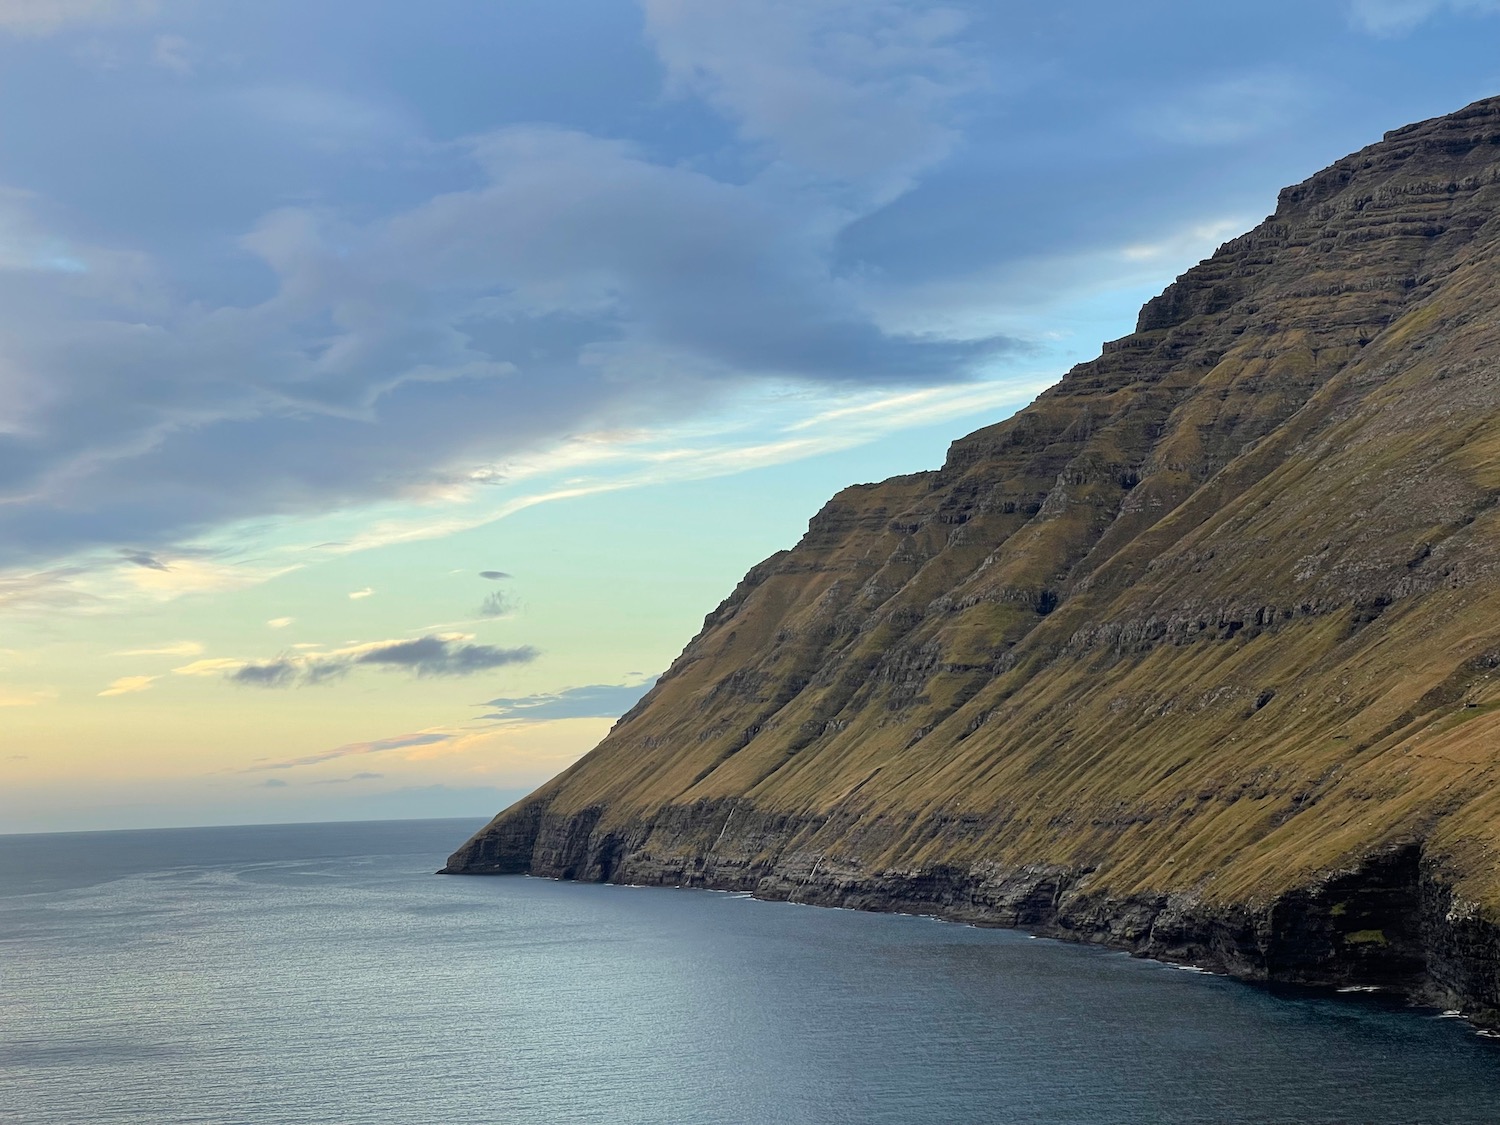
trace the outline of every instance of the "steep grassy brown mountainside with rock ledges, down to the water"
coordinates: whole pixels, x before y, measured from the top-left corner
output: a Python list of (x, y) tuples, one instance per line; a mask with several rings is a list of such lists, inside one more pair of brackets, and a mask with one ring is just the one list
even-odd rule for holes
[(446, 870), (736, 886), (1500, 1008), (1500, 99), (1281, 194), (843, 490)]

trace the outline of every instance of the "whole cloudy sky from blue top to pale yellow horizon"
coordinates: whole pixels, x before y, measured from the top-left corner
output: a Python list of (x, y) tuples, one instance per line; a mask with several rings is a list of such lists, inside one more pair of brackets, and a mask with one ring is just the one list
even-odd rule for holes
[(0, 0), (0, 832), (488, 816), (1500, 0)]

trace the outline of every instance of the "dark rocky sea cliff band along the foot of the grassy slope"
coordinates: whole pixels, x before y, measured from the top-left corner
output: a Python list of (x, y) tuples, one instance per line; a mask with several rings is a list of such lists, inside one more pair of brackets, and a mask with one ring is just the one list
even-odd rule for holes
[(602, 808), (555, 814), (524, 802), (438, 873), (730, 891), (1014, 928), (1256, 984), (1377, 990), (1500, 1034), (1500, 930), (1455, 896), (1419, 842), (1263, 902), (1234, 902), (1200, 888), (1112, 894), (1088, 866), (876, 867), (850, 852), (816, 850), (825, 819), (747, 804), (704, 801), (602, 826)]

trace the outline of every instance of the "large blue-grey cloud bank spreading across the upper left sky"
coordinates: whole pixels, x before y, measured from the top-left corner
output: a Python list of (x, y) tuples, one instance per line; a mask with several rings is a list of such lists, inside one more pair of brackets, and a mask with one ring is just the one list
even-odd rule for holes
[(546, 124), (436, 146), (402, 112), (288, 87), (214, 102), (214, 134), (426, 153), (424, 195), (236, 218), (192, 240), (231, 248), (206, 268), (176, 236), (88, 237), (108, 225), (0, 188), (0, 567), (122, 549), (165, 574), (172, 544), (237, 520), (441, 502), (484, 466), (750, 381), (933, 386), (1012, 350), (884, 330), (838, 260), (956, 142), (975, 70), (954, 16), (648, 18), (676, 93), (736, 122), (734, 168), (708, 159), (722, 136), (702, 160)]

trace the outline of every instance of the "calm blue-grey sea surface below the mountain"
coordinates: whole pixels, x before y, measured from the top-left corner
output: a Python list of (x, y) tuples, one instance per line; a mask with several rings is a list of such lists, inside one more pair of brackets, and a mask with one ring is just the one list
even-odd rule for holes
[(430, 874), (477, 824), (0, 837), (0, 1122), (1500, 1120), (1366, 996), (702, 891)]

